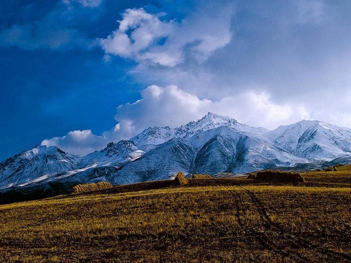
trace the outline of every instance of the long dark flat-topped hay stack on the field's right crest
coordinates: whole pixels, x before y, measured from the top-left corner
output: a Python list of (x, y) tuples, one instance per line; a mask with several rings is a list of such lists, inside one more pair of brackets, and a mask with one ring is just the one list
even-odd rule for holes
[(256, 181), (263, 182), (304, 182), (305, 180), (298, 172), (282, 172), (279, 170), (258, 171)]

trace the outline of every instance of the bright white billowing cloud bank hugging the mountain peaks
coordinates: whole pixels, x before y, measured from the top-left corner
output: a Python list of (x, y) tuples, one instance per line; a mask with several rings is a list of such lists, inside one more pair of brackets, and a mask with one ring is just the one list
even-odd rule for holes
[(46, 139), (42, 144), (56, 145), (84, 156), (104, 148), (111, 141), (130, 139), (149, 126), (174, 128), (198, 120), (209, 111), (268, 128), (299, 121), (307, 116), (302, 106), (277, 105), (270, 101), (268, 95), (254, 91), (214, 102), (198, 98), (177, 86), (162, 88), (152, 85), (141, 92), (141, 99), (118, 106), (115, 116), (118, 123), (102, 135), (95, 135), (91, 130), (71, 131), (63, 137)]

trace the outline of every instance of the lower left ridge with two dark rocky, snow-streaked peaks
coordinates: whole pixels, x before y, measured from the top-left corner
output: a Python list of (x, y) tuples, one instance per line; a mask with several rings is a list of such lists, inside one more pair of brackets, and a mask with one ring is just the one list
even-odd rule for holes
[(144, 153), (132, 141), (126, 140), (109, 143), (105, 149), (85, 157), (71, 155), (56, 146), (38, 146), (0, 163), (0, 189), (53, 181), (84, 183), (107, 171), (112, 172)]

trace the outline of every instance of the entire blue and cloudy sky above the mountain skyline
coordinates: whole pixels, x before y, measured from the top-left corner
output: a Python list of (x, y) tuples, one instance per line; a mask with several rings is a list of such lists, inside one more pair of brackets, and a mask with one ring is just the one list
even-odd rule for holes
[(0, 160), (84, 156), (211, 111), (351, 127), (351, 2), (0, 2)]

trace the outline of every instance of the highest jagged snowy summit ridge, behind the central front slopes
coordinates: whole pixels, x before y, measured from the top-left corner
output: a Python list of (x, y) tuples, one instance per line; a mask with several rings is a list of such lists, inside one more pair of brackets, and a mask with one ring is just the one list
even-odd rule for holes
[(133, 141), (139, 148), (144, 147), (145, 151), (148, 151), (153, 149), (154, 145), (164, 143), (171, 138), (191, 137), (199, 132), (215, 129), (221, 126), (257, 134), (262, 134), (269, 131), (268, 129), (262, 127), (251, 127), (249, 125), (242, 124), (235, 119), (209, 112), (200, 120), (191, 121), (188, 124), (182, 125), (178, 128), (171, 129), (168, 126), (161, 128), (149, 127), (130, 140)]

